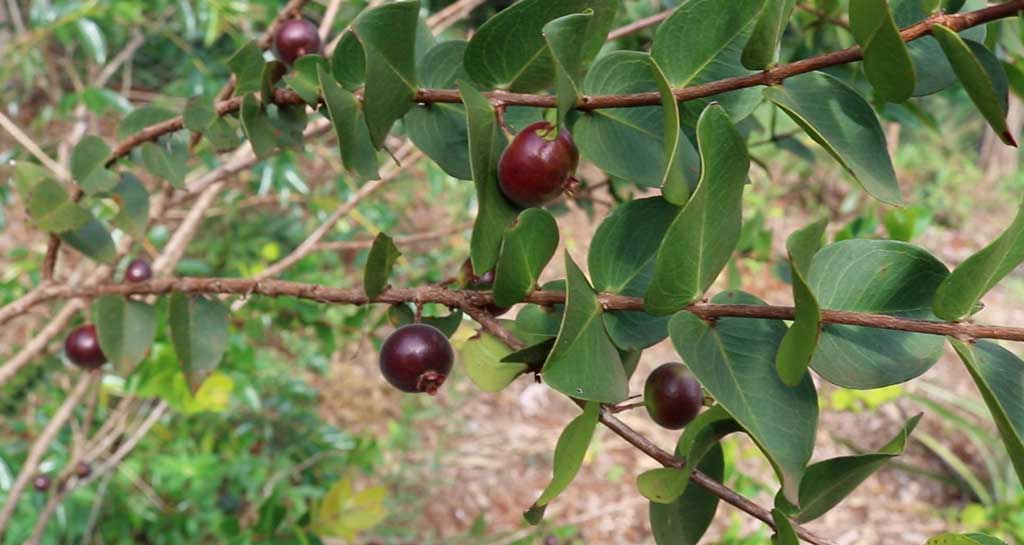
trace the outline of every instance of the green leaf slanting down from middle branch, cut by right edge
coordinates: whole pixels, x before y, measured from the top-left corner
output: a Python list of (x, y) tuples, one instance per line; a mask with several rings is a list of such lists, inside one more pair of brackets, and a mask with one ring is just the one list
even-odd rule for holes
[(1024, 484), (1024, 361), (992, 341), (949, 339), (992, 414), (1017, 477)]

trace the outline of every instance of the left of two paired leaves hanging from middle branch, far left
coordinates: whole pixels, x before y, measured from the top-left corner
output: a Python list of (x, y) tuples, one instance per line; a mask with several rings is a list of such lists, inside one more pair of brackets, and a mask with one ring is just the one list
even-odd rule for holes
[(104, 295), (92, 303), (99, 346), (118, 374), (128, 376), (157, 337), (157, 312), (141, 301)]

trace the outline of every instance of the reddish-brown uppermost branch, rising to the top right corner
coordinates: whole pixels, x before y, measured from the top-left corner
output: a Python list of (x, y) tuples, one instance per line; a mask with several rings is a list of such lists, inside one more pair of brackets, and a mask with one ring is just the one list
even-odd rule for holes
[[(976, 11), (968, 11), (954, 15), (936, 13), (920, 23), (903, 29), (900, 32), (900, 38), (905, 42), (923, 38), (932, 33), (932, 26), (934, 25), (942, 25), (953, 31), (961, 32), (992, 20), (1014, 16), (1021, 9), (1024, 9), (1024, 0), (1011, 0), (1010, 2), (1002, 4), (996, 4), (978, 9)], [(787, 65), (779, 65), (772, 69), (752, 74), (750, 76), (726, 78), (700, 85), (676, 88), (673, 90), (673, 95), (677, 101), (685, 102), (696, 98), (714, 96), (724, 92), (745, 89), (749, 87), (778, 85), (782, 81), (794, 76), (814, 72), (816, 70), (822, 70), (837, 65), (854, 62), (860, 60), (861, 58), (863, 58), (863, 52), (860, 47), (854, 46), (797, 60)], [(548, 94), (541, 95), (498, 91), (497, 93), (484, 93), (484, 95), (496, 100), (500, 99), (501, 102), (507, 106), (528, 106), (535, 108), (556, 108), (558, 106), (557, 97)], [(359, 96), (361, 96), (361, 91), (359, 92)], [(298, 104), (304, 102), (302, 97), (287, 89), (274, 89), (273, 96), (270, 98), (280, 104)], [(462, 95), (457, 89), (420, 89), (417, 91), (413, 100), (423, 103), (461, 103)], [(658, 106), (660, 103), (660, 93), (653, 91), (631, 94), (583, 96), (580, 99), (580, 103), (577, 106), (577, 109), (586, 112), (607, 108)], [(236, 96), (233, 98), (217, 102), (215, 104), (215, 110), (218, 115), (223, 116), (237, 112), (241, 106), (242, 97)], [(183, 126), (183, 120), (179, 116), (162, 123), (151, 125), (135, 134), (128, 136), (114, 148), (110, 158), (108, 159), (108, 165), (113, 164), (118, 159), (127, 155), (136, 145), (159, 138), (169, 132), (180, 130)]]

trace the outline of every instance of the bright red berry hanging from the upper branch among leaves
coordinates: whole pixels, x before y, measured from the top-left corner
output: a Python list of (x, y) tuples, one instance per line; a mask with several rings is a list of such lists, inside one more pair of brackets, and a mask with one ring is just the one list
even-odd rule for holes
[(561, 195), (577, 166), (580, 152), (565, 129), (557, 133), (547, 121), (522, 129), (498, 162), (498, 181), (509, 201), (541, 206)]

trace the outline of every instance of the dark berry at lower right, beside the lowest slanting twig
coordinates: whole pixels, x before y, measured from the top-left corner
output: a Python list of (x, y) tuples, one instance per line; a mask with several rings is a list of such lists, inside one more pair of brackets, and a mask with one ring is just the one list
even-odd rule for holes
[(662, 364), (647, 376), (643, 404), (659, 426), (679, 429), (700, 412), (703, 391), (683, 364)]

